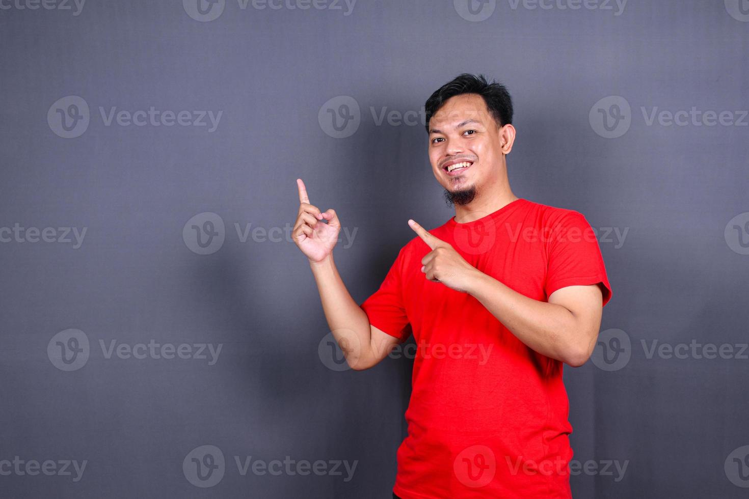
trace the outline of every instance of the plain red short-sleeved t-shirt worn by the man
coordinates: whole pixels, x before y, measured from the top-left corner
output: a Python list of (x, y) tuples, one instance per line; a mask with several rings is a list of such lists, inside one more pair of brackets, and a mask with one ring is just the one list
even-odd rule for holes
[[(598, 283), (604, 305), (611, 297), (598, 240), (579, 212), (521, 198), (429, 232), (532, 299)], [(571, 498), (562, 362), (527, 347), (473, 296), (428, 281), (421, 260), (429, 251), (414, 237), (361, 305), (375, 327), (401, 341), (413, 331), (416, 341), (393, 492), (404, 499)]]

